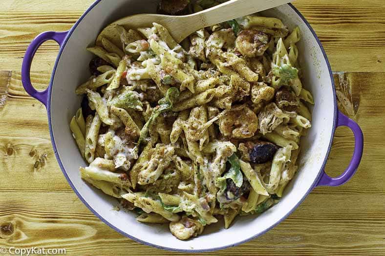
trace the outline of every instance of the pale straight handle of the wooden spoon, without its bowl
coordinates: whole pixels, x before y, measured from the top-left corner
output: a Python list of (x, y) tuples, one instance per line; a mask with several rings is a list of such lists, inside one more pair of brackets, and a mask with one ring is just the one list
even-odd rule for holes
[(201, 21), (199, 28), (202, 28), (277, 7), (291, 1), (293, 0), (230, 0), (191, 16), (199, 16)]

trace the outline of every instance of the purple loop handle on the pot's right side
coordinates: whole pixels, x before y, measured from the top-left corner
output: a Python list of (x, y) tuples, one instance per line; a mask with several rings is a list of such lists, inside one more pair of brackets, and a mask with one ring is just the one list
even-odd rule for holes
[(353, 121), (352, 119), (343, 115), (340, 111), (337, 113), (337, 127), (338, 126), (347, 126), (349, 127), (354, 134), (354, 153), (353, 157), (350, 160), (349, 166), (339, 177), (332, 178), (328, 176), (323, 170), (320, 181), (316, 186), (340, 186), (353, 177), (354, 173), (357, 171), (357, 168), (360, 164), (363, 150), (364, 150), (364, 135), (360, 126)]

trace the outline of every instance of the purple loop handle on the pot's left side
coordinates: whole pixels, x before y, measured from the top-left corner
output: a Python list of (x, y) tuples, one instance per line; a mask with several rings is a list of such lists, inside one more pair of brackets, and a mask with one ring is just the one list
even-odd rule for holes
[[(65, 37), (67, 36), (68, 31), (64, 32), (54, 32), (46, 31), (38, 35), (32, 42), (29, 44), (27, 51), (25, 52), (23, 62), (21, 64), (21, 83), (25, 91), (32, 96), (33, 98), (38, 99), (40, 102), (47, 107), (48, 103), (48, 88), (43, 92), (37, 91), (31, 83), (30, 70), (32, 59), (35, 56), (36, 51), (39, 49), (40, 45), (47, 40), (56, 41), (60, 47), (62, 47)], [(48, 86), (49, 87), (49, 86)]]

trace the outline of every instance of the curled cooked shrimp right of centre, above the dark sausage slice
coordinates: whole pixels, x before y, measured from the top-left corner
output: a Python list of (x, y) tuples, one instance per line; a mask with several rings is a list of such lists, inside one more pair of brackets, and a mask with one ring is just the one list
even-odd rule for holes
[(220, 132), (231, 138), (250, 138), (257, 128), (257, 115), (245, 105), (229, 110), (219, 119)]

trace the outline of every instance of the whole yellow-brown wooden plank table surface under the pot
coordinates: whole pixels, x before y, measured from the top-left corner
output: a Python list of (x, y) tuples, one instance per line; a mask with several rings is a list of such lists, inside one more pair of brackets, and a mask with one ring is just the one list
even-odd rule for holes
[[(0, 247), (171, 255), (115, 232), (78, 199), (56, 162), (44, 106), (21, 86), (21, 61), (30, 41), (43, 31), (69, 29), (92, 1), (1, 0)], [(385, 1), (294, 5), (317, 32), (336, 72), (340, 107), (352, 106), (348, 114), (364, 131), (364, 157), (345, 185), (315, 189), (272, 231), (213, 255), (385, 255)], [(52, 41), (40, 47), (32, 65), (36, 87), (47, 86), (57, 52)], [(352, 133), (339, 128), (326, 172), (341, 173), (352, 152)]]

